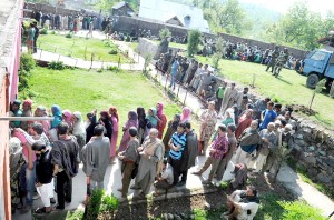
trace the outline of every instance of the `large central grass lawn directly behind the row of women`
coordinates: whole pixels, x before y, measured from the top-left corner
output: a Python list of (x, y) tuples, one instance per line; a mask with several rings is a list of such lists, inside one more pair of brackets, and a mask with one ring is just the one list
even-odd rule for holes
[[(80, 69), (55, 71), (37, 67), (32, 70), (29, 91), (36, 96), (31, 98), (35, 108), (42, 104), (50, 109), (57, 103), (62, 110), (86, 114), (95, 108), (101, 111), (115, 106), (120, 117), (119, 128), (126, 122), (128, 111), (136, 110), (137, 107), (148, 110), (163, 101), (168, 120), (181, 111), (160, 88), (136, 72), (98, 73)], [(198, 128), (197, 124), (194, 127)], [(120, 129), (119, 137), (121, 134)]]

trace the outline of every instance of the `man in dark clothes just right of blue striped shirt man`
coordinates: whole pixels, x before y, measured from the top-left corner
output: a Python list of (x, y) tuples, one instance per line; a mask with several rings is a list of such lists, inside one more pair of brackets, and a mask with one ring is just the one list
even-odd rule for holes
[(188, 170), (195, 166), (196, 157), (198, 156), (198, 139), (194, 129), (191, 129), (191, 124), (189, 122), (185, 123), (186, 129), (186, 149), (184, 151), (183, 163), (180, 167), (181, 181), (179, 181), (176, 186), (181, 187), (187, 182)]

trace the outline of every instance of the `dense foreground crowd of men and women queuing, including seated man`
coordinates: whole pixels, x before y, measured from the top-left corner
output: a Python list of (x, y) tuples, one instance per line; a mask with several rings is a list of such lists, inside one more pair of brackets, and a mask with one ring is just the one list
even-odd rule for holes
[[(122, 199), (127, 199), (131, 179), (135, 184), (130, 188), (140, 192), (135, 199), (145, 198), (151, 186), (155, 187), (154, 196), (161, 193), (161, 189), (185, 186), (196, 158), (206, 154), (205, 163), (193, 172), (200, 176), (210, 168), (203, 184), (232, 180), (230, 186), (240, 189), (246, 184), (248, 171), (266, 171), (275, 178), (281, 162), (294, 146), (296, 122), (291, 117), (292, 110), (283, 110), (282, 104), (274, 104), (269, 98), (253, 103), (248, 88), (238, 92), (235, 83), (224, 83), (219, 89), (217, 93), (222, 99), (208, 102), (199, 117), (198, 132), (191, 127), (188, 107), (168, 121), (164, 104), (159, 102), (147, 111), (138, 107), (128, 112), (119, 147), (120, 122), (115, 107), (99, 114), (94, 110), (85, 120), (80, 112), (61, 110), (57, 104), (51, 107), (50, 113), (42, 106), (32, 112), (31, 100), (24, 100), (22, 109), (19, 100), (13, 101), (13, 117), (53, 116), (51, 121), (10, 123), (11, 144), (22, 146), (23, 162), (18, 184), (13, 184), (19, 186), (21, 213), (31, 209), (35, 189), (45, 206), (37, 212), (55, 209), (51, 206), (56, 202), (53, 178), (57, 179), (56, 209), (65, 209), (65, 202), (71, 202), (72, 178), (78, 173), (80, 162), (90, 192), (104, 189), (107, 167), (114, 164), (116, 158), (121, 160), (122, 187), (118, 191)], [(226, 171), (228, 166), (233, 167), (232, 173)], [(252, 197), (245, 197), (247, 193)], [(236, 194), (228, 199), (232, 209), (226, 214), (232, 217), (253, 210), (249, 212), (255, 216), (258, 208), (256, 189), (249, 186), (247, 191), (236, 191)], [(240, 201), (253, 202), (254, 207), (245, 209), (239, 206)]]

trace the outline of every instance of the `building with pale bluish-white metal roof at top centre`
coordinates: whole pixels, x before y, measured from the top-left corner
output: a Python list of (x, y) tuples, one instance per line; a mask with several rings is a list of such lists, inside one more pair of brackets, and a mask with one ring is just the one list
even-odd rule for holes
[(202, 9), (165, 0), (140, 0), (139, 17), (209, 33)]

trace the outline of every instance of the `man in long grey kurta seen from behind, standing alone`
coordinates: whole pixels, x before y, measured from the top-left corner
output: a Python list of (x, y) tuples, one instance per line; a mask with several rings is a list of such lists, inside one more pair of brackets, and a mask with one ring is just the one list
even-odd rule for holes
[(98, 124), (94, 128), (94, 139), (82, 149), (84, 172), (87, 182), (90, 183), (91, 191), (96, 188), (104, 189), (104, 179), (109, 164), (110, 142), (104, 136), (104, 126)]

